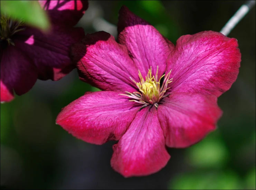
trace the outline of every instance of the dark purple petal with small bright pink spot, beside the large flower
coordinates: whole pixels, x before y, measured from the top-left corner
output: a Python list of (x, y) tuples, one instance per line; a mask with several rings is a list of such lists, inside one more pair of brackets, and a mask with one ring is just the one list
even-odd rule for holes
[(75, 68), (70, 59), (70, 47), (84, 37), (84, 30), (54, 26), (45, 34), (27, 27), (19, 35), (15, 45), (34, 61), (39, 79), (59, 80)]

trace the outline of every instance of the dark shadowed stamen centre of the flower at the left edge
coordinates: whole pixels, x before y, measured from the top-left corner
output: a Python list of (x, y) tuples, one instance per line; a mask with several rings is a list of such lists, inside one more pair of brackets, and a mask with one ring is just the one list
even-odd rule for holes
[(0, 29), (0, 38), (2, 40), (6, 40), (8, 44), (12, 44), (14, 46), (13, 41), (11, 40), (11, 36), (16, 32), (24, 30), (24, 28), (20, 28), (23, 26), (23, 21), (16, 21), (10, 19), (10, 17), (1, 14), (0, 16), (1, 21), (1, 29)]

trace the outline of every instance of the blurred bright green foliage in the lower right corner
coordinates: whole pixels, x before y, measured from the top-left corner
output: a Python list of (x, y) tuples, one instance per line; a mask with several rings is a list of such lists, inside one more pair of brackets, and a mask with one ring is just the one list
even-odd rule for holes
[(194, 170), (176, 176), (169, 189), (255, 189), (255, 168), (244, 179), (231, 170), (227, 163), (234, 157), (217, 131), (188, 148), (186, 155)]

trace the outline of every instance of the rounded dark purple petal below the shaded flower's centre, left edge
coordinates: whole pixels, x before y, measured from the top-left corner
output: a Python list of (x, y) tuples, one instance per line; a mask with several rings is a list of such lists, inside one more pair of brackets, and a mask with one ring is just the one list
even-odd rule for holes
[(18, 95), (28, 92), (37, 80), (36, 66), (26, 54), (21, 52), (18, 46), (1, 48), (0, 67), (1, 83), (9, 90), (10, 94), (13, 94), (12, 89)]

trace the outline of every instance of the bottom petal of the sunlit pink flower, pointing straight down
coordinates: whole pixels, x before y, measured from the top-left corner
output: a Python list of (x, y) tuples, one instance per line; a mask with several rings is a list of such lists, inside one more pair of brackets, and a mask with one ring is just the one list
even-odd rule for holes
[(170, 155), (165, 149), (157, 110), (140, 110), (113, 150), (111, 166), (124, 177), (145, 176), (162, 169)]

